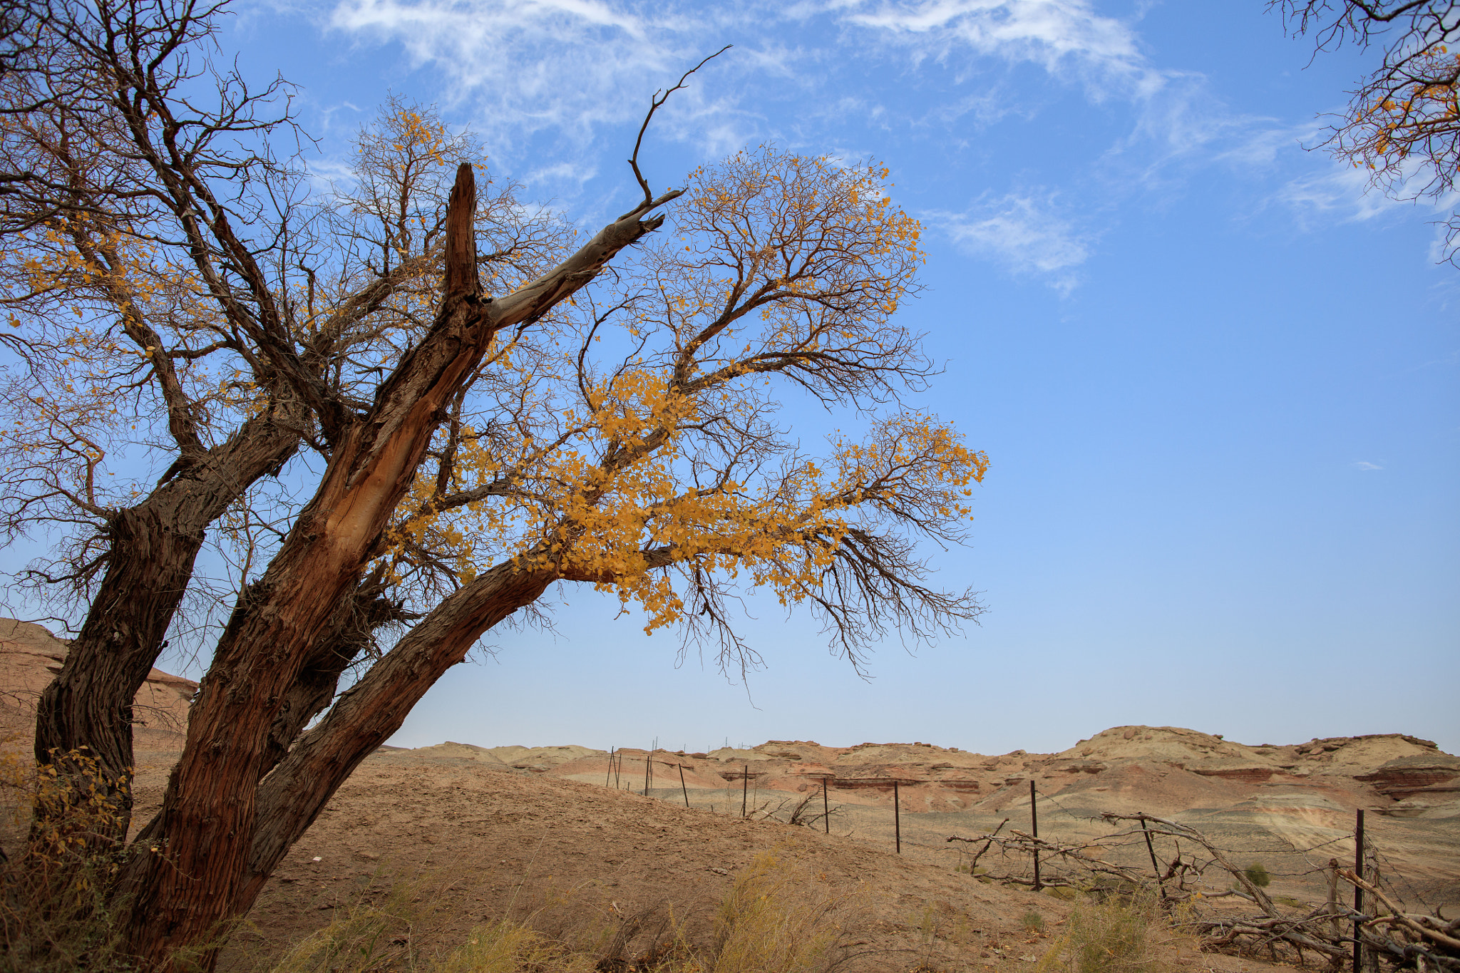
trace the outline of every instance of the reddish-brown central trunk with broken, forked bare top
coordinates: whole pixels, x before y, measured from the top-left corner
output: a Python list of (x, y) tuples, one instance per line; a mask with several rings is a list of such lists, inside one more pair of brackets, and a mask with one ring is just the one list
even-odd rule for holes
[[(639, 220), (641, 213), (677, 195), (641, 204), (553, 271), (493, 303), (476, 293), (474, 244), (463, 241), (472, 235), (473, 182), (472, 168), (460, 166), (447, 214), (447, 286), (432, 328), (380, 387), (369, 413), (342, 430), (318, 490), (279, 554), (239, 598), (215, 649), (182, 757), (147, 829), (164, 852), (133, 859), (124, 881), (131, 899), (127, 948), (146, 963), (164, 966), (174, 948), (203, 939), (237, 915), (270, 729), (305, 658), (327, 637), (336, 604), (358, 582), (409, 490), (447, 404), (470, 381), (493, 334), (542, 317), (588, 283), (616, 252), (663, 222)], [(458, 267), (463, 260), (473, 268)], [(328, 759), (345, 764), (349, 753), (346, 747)], [(285, 818), (269, 826), (302, 833), (298, 821)]]

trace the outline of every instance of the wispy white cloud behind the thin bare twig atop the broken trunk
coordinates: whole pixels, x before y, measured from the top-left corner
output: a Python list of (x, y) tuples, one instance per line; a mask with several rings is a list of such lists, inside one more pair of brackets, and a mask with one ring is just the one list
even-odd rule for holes
[[(603, 168), (602, 131), (622, 143), (650, 96), (723, 47), (743, 13), (673, 0), (333, 0), (327, 26), (362, 48), (396, 47), (498, 165), (536, 193), (574, 195)], [(746, 79), (794, 88), (797, 57), (769, 32), (740, 39), (656, 114), (654, 139), (715, 158), (764, 136), (742, 106)], [(552, 165), (537, 165), (545, 149)]]

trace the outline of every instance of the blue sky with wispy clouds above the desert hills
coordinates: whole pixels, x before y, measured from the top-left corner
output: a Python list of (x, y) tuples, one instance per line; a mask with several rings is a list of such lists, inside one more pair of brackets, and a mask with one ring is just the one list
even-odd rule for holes
[(656, 118), (651, 181), (766, 140), (885, 160), (929, 230), (904, 314), (946, 363), (914, 404), (991, 461), (971, 543), (930, 551), (987, 614), (869, 681), (774, 604), (742, 686), (564, 591), (396, 743), (1460, 750), (1460, 271), (1434, 209), (1302, 147), (1375, 54), (1314, 60), (1260, 0), (251, 3), (220, 44), (301, 86), (321, 175), (397, 92), (590, 228), (637, 194), (654, 89), (734, 44)]

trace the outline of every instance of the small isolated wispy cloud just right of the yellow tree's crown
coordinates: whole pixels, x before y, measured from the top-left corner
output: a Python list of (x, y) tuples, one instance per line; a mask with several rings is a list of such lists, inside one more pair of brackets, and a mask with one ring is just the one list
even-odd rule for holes
[(1075, 268), (1091, 254), (1091, 236), (1061, 216), (1053, 193), (1009, 193), (977, 200), (962, 213), (926, 213), (923, 219), (961, 249), (991, 260), (1013, 274), (1032, 274), (1069, 293)]

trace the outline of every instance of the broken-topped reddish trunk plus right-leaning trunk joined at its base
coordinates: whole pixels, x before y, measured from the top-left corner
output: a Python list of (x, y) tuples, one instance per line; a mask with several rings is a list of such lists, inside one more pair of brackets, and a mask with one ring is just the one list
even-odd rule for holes
[[(638, 217), (675, 195), (645, 200), (553, 271), (493, 302), (477, 293), (474, 178), (472, 166), (458, 168), (435, 322), (381, 385), (369, 413), (343, 425), (318, 490), (234, 608), (201, 681), (162, 810), (120, 884), (128, 900), (128, 953), (166, 966), (174, 950), (203, 941), (241, 915), (349, 770), (400, 726), (409, 703), (486, 627), (550, 584), (539, 573), (517, 575), (512, 566), (485, 572), (418, 624), (269, 773), (280, 750), (273, 734), (292, 721), (285, 713), (289, 700), (311, 691), (301, 689), (301, 677), (312, 678), (308, 661), (336, 637), (340, 601), (352, 597), (448, 403), (470, 381), (493, 334), (542, 317), (588, 283), (619, 249), (660, 226), (661, 217)], [(454, 607), (442, 611), (448, 604)], [(372, 716), (358, 699), (397, 702)], [(304, 767), (308, 786), (282, 794), (283, 782), (298, 783), (302, 778), (292, 775)], [(267, 804), (260, 805), (263, 795)]]

